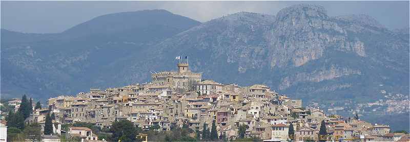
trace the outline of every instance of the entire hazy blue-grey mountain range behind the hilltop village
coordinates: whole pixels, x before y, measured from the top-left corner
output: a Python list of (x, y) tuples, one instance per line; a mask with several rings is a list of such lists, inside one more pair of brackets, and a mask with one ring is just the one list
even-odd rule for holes
[(2, 30), (1, 93), (48, 98), (148, 82), (149, 70), (176, 69), (175, 56), (189, 56), (204, 79), (266, 84), (351, 115), (364, 111), (358, 104), (409, 95), (408, 37), (408, 29), (367, 15), (331, 17), (317, 5), (204, 23), (165, 10), (115, 13), (57, 34)]

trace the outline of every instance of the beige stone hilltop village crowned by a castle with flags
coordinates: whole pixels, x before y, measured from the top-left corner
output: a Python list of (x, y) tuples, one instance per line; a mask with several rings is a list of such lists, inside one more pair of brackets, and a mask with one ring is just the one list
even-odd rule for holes
[[(303, 107), (302, 100), (288, 98), (269, 86), (202, 80), (200, 73), (191, 72), (187, 62), (179, 62), (177, 69), (153, 73), (151, 83), (105, 90), (92, 88), (75, 96), (50, 98), (47, 106), (33, 110), (26, 122), (38, 123), (44, 131), (46, 115), (53, 113), (54, 134), (69, 133), (85, 141), (101, 138), (86, 127), (63, 129), (61, 126), (80, 122), (110, 129), (114, 122), (128, 120), (142, 130), (157, 126), (155, 131), (171, 131), (185, 126), (200, 136), (204, 126), (210, 130), (214, 123), (219, 140), (247, 137), (263, 141), (408, 140), (408, 135), (392, 133), (388, 125), (367, 123), (357, 115), (346, 118), (326, 115), (317, 107)], [(18, 101), (10, 101), (9, 105), (18, 107)], [(324, 135), (319, 134), (322, 124), (326, 129)], [(246, 126), (243, 134), (242, 126)], [(137, 136), (143, 140), (155, 137), (144, 133)]]

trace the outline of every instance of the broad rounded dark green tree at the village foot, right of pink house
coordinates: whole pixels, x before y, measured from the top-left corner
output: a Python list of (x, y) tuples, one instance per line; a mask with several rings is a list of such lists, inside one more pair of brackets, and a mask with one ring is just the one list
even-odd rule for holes
[(135, 141), (136, 129), (134, 125), (128, 120), (121, 120), (114, 122), (110, 129), (112, 141)]

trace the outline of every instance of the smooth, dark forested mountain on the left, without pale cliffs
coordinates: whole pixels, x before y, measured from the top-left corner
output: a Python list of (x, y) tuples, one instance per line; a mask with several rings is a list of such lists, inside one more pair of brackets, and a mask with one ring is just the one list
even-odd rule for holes
[(115, 74), (119, 66), (130, 64), (117, 62), (122, 58), (142, 56), (138, 54), (157, 42), (199, 24), (166, 10), (144, 10), (98, 16), (55, 34), (2, 29), (2, 97), (25, 93), (47, 99), (98, 87), (98, 82), (125, 85), (95, 78), (107, 72), (101, 68), (115, 68)]

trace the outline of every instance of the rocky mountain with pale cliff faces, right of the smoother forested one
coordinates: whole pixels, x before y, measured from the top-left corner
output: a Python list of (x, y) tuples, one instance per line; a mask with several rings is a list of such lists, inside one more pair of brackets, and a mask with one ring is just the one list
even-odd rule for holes
[(329, 17), (320, 6), (296, 5), (276, 16), (240, 12), (202, 23), (115, 78), (144, 82), (147, 68), (173, 69), (170, 59), (188, 55), (194, 71), (222, 83), (267, 84), (305, 104), (373, 102), (384, 98), (381, 90), (408, 94), (408, 44), (369, 16)]

